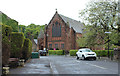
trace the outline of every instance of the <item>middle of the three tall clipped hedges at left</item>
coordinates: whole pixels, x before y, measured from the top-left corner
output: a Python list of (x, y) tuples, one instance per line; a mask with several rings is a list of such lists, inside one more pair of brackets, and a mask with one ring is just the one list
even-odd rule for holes
[(22, 47), (24, 44), (24, 34), (21, 32), (11, 33), (11, 57), (21, 58), (22, 57)]

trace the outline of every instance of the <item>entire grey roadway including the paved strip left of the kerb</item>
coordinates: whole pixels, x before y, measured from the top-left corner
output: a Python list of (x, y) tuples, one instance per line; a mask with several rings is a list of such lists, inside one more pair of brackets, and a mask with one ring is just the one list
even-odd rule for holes
[(31, 59), (24, 67), (11, 69), (10, 74), (113, 74), (114, 76), (118, 74), (118, 63), (105, 60), (76, 60), (76, 57), (71, 56), (41, 56), (39, 59)]

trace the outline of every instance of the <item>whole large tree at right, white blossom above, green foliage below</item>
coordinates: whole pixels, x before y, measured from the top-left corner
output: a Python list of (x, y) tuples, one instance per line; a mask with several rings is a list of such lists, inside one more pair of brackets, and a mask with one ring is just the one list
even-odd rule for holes
[[(119, 45), (120, 26), (118, 20), (117, 1), (93, 1), (87, 5), (87, 8), (80, 12), (80, 18), (85, 23), (83, 37), (78, 41), (80, 46), (94, 47), (104, 45), (108, 42)], [(111, 31), (108, 34), (106, 31)], [(116, 32), (116, 33), (115, 33)], [(112, 36), (112, 37), (111, 37)], [(114, 39), (112, 39), (114, 37)]]

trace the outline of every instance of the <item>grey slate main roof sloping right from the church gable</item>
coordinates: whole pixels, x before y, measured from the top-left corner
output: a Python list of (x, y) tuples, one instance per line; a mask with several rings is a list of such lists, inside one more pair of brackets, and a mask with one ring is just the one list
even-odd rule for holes
[(79, 21), (76, 21), (74, 19), (68, 18), (66, 16), (63, 16), (61, 14), (59, 14), (60, 17), (65, 21), (65, 23), (69, 23), (69, 27), (73, 27), (73, 29), (77, 32), (77, 33), (82, 33), (82, 29), (83, 29), (83, 24)]

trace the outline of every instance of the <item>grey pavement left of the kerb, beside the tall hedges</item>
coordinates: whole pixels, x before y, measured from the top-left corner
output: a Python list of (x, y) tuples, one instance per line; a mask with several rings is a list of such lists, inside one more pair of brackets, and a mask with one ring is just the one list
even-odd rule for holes
[(10, 74), (51, 74), (50, 61), (45, 57), (30, 59), (24, 67), (10, 69)]

